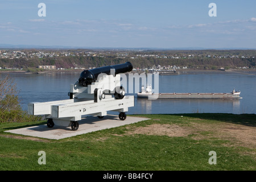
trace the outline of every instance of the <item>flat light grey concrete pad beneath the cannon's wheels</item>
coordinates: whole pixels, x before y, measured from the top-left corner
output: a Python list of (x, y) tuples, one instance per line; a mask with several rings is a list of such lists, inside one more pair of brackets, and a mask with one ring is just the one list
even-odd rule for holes
[(131, 123), (136, 123), (149, 118), (139, 118), (127, 116), (125, 121), (121, 121), (118, 115), (106, 115), (104, 118), (100, 119), (98, 117), (86, 117), (79, 121), (79, 129), (76, 131), (71, 130), (71, 127), (63, 126), (53, 126), (52, 128), (46, 125), (38, 125), (31, 127), (24, 127), (21, 129), (8, 130), (5, 132), (27, 135), (31, 137), (40, 137), (47, 139), (63, 139), (68, 137), (74, 137), (76, 135), (86, 134), (93, 131), (110, 129), (112, 127), (118, 127), (122, 125), (129, 125)]

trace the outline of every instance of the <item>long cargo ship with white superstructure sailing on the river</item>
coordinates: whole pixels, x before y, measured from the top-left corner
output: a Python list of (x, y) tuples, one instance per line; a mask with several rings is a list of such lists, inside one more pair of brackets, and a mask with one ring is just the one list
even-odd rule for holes
[(212, 98), (221, 98), (221, 99), (240, 99), (241, 92), (236, 92), (234, 89), (230, 93), (152, 93), (152, 87), (147, 86), (144, 89), (142, 86), (142, 91), (137, 93), (138, 98), (148, 98), (148, 99), (157, 99), (157, 98), (204, 98), (204, 99), (212, 99)]

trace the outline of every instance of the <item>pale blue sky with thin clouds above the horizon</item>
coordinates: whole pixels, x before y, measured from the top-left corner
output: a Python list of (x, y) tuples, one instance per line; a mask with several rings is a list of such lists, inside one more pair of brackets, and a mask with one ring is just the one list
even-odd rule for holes
[[(209, 16), (210, 3), (217, 16)], [(255, 7), (255, 0), (0, 0), (0, 45), (255, 49)]]

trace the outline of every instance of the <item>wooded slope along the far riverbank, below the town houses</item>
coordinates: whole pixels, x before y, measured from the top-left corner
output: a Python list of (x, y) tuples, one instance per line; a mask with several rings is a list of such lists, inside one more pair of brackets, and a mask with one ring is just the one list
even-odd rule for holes
[(189, 57), (189, 58), (156, 58), (156, 57), (137, 57), (136, 59), (118, 57), (97, 57), (97, 56), (59, 56), (45, 58), (19, 58), (19, 59), (0, 59), (2, 68), (36, 68), (38, 65), (56, 65), (56, 68), (89, 68), (103, 67), (130, 61), (134, 68), (152, 68), (154, 65), (168, 66), (176, 65), (191, 69), (216, 69), (224, 68), (255, 68), (255, 57)]

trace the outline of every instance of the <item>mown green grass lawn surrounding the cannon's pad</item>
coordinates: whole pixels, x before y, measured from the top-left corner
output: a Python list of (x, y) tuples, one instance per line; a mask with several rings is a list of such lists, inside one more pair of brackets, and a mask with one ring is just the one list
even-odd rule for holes
[[(181, 117), (182, 115), (182, 117)], [(45, 123), (0, 125), (0, 170), (255, 170), (256, 148), (236, 135), (220, 134), (218, 126), (254, 131), (255, 114), (153, 114), (134, 123), (49, 140), (5, 133), (5, 130)], [(170, 127), (166, 127), (166, 126)], [(151, 130), (150, 126), (158, 126)], [(165, 127), (160, 127), (165, 126)], [(144, 129), (147, 130), (142, 132)], [(149, 130), (150, 129), (150, 130)], [(163, 130), (162, 134), (155, 133)], [(176, 129), (176, 130), (173, 130)], [(168, 132), (176, 136), (169, 136)], [(185, 135), (180, 135), (184, 131)], [(225, 131), (225, 130), (224, 130)], [(237, 128), (237, 131), (238, 130)], [(227, 131), (229, 134), (229, 132)], [(46, 152), (46, 165), (39, 165), (39, 151)], [(216, 151), (217, 164), (210, 165), (209, 151)]]

